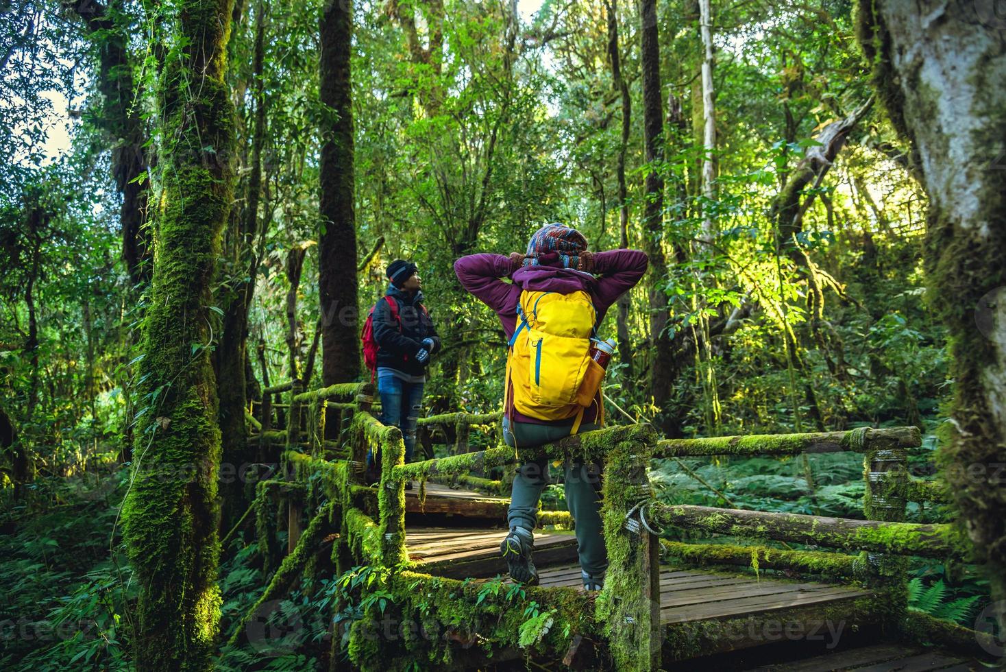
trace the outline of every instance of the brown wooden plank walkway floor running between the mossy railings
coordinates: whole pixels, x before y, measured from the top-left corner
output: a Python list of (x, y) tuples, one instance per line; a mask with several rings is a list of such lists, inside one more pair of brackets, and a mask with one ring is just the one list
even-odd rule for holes
[[(408, 519), (411, 521), (405, 530), (409, 558), (417, 561), (420, 570), (435, 575), (471, 577), (476, 581), (497, 575), (505, 577), (506, 563), (500, 557), (499, 545), (506, 535), (508, 503), (508, 498), (428, 483), (426, 504), (422, 507), (418, 484), (413, 482), (412, 490), (406, 491), (406, 513), (410, 514)], [(472, 520), (470, 523), (466, 520), (463, 527), (433, 527), (417, 522), (424, 520), (423, 516), (415, 515), (421, 512), (449, 513), (461, 520)], [(582, 590), (573, 532), (538, 530), (534, 545), (534, 561), (542, 586)], [(689, 672), (696, 668), (695, 659), (675, 660), (680, 652), (670, 643), (675, 639), (675, 629), (679, 628), (685, 628), (686, 633), (689, 629), (700, 633), (716, 622), (779, 625), (774, 619), (785, 618), (786, 625), (802, 628), (802, 633), (820, 635), (821, 610), (827, 606), (831, 619), (838, 619), (843, 626), (848, 625), (853, 630), (858, 626), (861, 632), (868, 632), (872, 617), (864, 621), (862, 614), (857, 613), (857, 605), (861, 607), (862, 599), (870, 596), (869, 591), (854, 585), (764, 575), (759, 578), (736, 571), (664, 565), (660, 572), (660, 620), (668, 632), (664, 644), (665, 667), (671, 671)], [(848, 623), (842, 614), (848, 615)], [(766, 664), (765, 661), (776, 659), (773, 651), (785, 656), (788, 647), (772, 646), (780, 638), (767, 638), (757, 633), (753, 637), (743, 636), (740, 630), (744, 628), (732, 637), (723, 638), (718, 646), (710, 642), (712, 647), (706, 653), (712, 656), (710, 660), (734, 657), (730, 663), (723, 660), (714, 664), (720, 672), (978, 672), (986, 669), (977, 661), (942, 649), (896, 643), (857, 644), (855, 641), (851, 647), (842, 646), (827, 653), (823, 653), (824, 649), (802, 654), (790, 650), (789, 659)], [(715, 632), (715, 627), (710, 632)], [(679, 632), (677, 637), (680, 636)], [(832, 646), (835, 644), (838, 640)], [(750, 661), (745, 653), (751, 651), (749, 647), (769, 653), (760, 655), (756, 659), (758, 662), (745, 665), (745, 659)], [(720, 653), (717, 655), (717, 652)], [(751, 664), (761, 666), (750, 667)]]

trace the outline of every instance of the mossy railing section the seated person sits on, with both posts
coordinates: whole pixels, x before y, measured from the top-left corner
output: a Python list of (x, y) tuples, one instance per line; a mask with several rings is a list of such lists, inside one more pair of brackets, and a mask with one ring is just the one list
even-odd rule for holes
[[(490, 628), (495, 641), (482, 643), (490, 652), (533, 648), (539, 655), (561, 659), (577, 638), (604, 639), (618, 669), (659, 668), (662, 643), (659, 571), (656, 570), (659, 544), (656, 536), (633, 524), (638, 505), (651, 496), (646, 469), (657, 439), (651, 428), (609, 428), (568, 437), (537, 449), (521, 450), (519, 455), (513, 449), (493, 448), (408, 465), (404, 464), (404, 448), (397, 429), (384, 427), (372, 416), (359, 413), (354, 417), (351, 433), (354, 444), (361, 446), (360, 450), (365, 447), (380, 460), (378, 520), (364, 516), (359, 524), (376, 528), (374, 536), (379, 539), (383, 566), (400, 568), (393, 574), (397, 578), (387, 579), (390, 584), (407, 580), (409, 590), (399, 594), (401, 604), (396, 606), (403, 616), (416, 610), (435, 609), (442, 623), (455, 623), (466, 610), (482, 611), (480, 618), (483, 619), (497, 610), (497, 625)], [(486, 603), (485, 597), (478, 600), (475, 597), (478, 591), (474, 587), (466, 591), (461, 582), (456, 585), (450, 579), (408, 569), (411, 563), (404, 537), (406, 481), (417, 480), (422, 487), (426, 481), (437, 477), (463, 475), (539, 458), (605, 465), (602, 513), (609, 569), (605, 590), (599, 596), (592, 598), (570, 590), (527, 589), (522, 602), (507, 611), (502, 609), (505, 601), (494, 599)], [(468, 593), (472, 593), (471, 603), (464, 598)], [(477, 609), (478, 603), (484, 604), (483, 610)], [(528, 614), (535, 616), (529, 618)], [(528, 628), (528, 623), (537, 625)], [(351, 641), (354, 637), (363, 637), (363, 631), (351, 633)], [(378, 647), (360, 640), (355, 646), (350, 645), (350, 654), (353, 662), (364, 668), (393, 666), (390, 661), (394, 658), (395, 647), (392, 641), (381, 642)], [(401, 648), (399, 653), (402, 660), (414, 659), (417, 655), (428, 658), (451, 655), (442, 649), (441, 644), (418, 640)]]

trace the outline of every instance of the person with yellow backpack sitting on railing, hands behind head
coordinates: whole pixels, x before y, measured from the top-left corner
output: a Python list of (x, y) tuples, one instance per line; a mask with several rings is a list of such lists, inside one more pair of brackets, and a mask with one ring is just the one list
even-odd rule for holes
[[(602, 427), (605, 371), (593, 355), (599, 345), (606, 348), (597, 327), (619, 297), (643, 278), (646, 267), (645, 253), (591, 253), (582, 233), (558, 223), (535, 231), (523, 255), (471, 255), (455, 262), (462, 286), (496, 312), (509, 339), (503, 418), (508, 446), (532, 448)], [(601, 474), (597, 465), (579, 463), (567, 463), (564, 471), (583, 586), (600, 590), (608, 567), (601, 535)], [(514, 580), (538, 580), (532, 530), (548, 483), (544, 461), (520, 465), (514, 478), (507, 511), (510, 531), (500, 545)]]

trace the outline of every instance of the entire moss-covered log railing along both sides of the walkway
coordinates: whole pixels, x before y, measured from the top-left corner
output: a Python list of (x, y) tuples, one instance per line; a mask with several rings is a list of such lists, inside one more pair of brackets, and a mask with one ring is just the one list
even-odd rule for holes
[[(656, 670), (662, 656), (680, 659), (700, 655), (705, 648), (713, 650), (715, 628), (702, 626), (701, 632), (692, 632), (688, 629), (694, 624), (660, 625), (661, 552), (686, 564), (789, 570), (861, 583), (876, 597), (855, 601), (857, 615), (868, 612), (869, 618), (892, 632), (921, 628), (906, 613), (904, 555), (967, 559), (962, 550), (967, 544), (955, 528), (904, 522), (906, 502), (947, 499), (941, 485), (908, 476), (907, 450), (920, 443), (913, 428), (659, 440), (648, 426), (612, 427), (519, 454), (510, 448), (469, 453), (470, 429), (496, 424), (498, 413), (445, 413), (421, 418), (420, 424), (453, 426), (452, 455), (406, 465), (400, 431), (385, 427), (370, 412), (369, 385), (305, 392), (293, 381), (287, 391), (287, 427), (277, 434), (282, 434), (286, 448), (282, 454), (286, 473), (303, 487), (277, 481), (260, 489), (259, 515), (271, 521), (275, 507), (270, 502), (285, 497), (288, 530), (296, 534), (289, 539), (287, 556), (267, 595), (282, 590), (292, 574), (309, 571), (313, 551), (326, 539), (332, 541), (331, 560), (338, 574), (352, 575), (362, 565), (377, 568), (374, 578), (360, 590), (369, 598), (385, 596), (386, 604), (378, 608), (372, 600), (364, 603), (361, 594), (367, 616), (353, 622), (348, 631), (350, 659), (362, 669), (395, 669), (422, 660), (433, 665), (463, 666), (466, 661), (480, 665), (487, 658), (501, 661), (514, 652), (568, 662), (576, 643), (590, 641), (603, 643), (600, 655), (609, 666)], [(271, 431), (266, 415), (258, 421), (260, 437), (266, 436)], [(362, 482), (368, 451), (380, 469), (380, 480), (371, 487)], [(833, 452), (863, 456), (866, 520), (664, 504), (654, 499), (647, 476), (652, 458)], [(474, 479), (473, 472), (535, 459), (604, 465), (602, 514), (610, 566), (600, 594), (515, 587), (495, 579), (459, 581), (424, 573), (422, 565), (409, 558), (406, 481), (420, 482), (422, 499), (428, 481)], [(307, 511), (316, 513), (301, 534), (298, 521)], [(655, 530), (665, 526), (754, 540), (754, 545), (659, 539)], [(333, 529), (338, 531), (332, 533)], [(778, 542), (810, 548), (777, 548)], [(428, 634), (439, 626), (441, 636), (410, 632), (389, 638), (378, 632), (389, 616), (418, 624)], [(960, 639), (961, 633), (955, 633)]]

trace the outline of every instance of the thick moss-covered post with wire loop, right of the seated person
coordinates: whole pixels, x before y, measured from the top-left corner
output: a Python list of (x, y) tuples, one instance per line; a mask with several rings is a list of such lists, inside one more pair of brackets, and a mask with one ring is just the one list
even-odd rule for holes
[(605, 464), (609, 565), (597, 608), (617, 670), (660, 669), (660, 543), (640, 516), (640, 506), (653, 497), (647, 475), (652, 451), (653, 442), (627, 441), (613, 447)]

